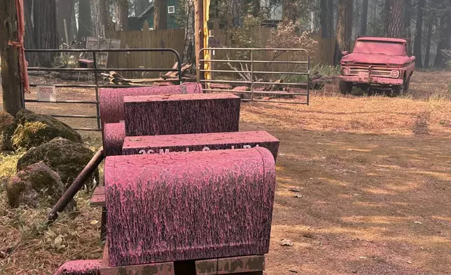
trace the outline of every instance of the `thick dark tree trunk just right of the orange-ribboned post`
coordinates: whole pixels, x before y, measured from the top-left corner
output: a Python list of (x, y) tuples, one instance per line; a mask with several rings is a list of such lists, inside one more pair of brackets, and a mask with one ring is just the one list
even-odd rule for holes
[[(58, 48), (55, 0), (34, 0), (34, 41), (36, 48)], [(55, 53), (39, 53), (39, 63), (51, 67)]]

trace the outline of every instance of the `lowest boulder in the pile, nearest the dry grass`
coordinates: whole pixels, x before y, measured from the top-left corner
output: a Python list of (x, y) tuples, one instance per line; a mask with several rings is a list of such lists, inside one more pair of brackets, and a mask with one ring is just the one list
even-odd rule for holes
[(65, 190), (60, 176), (44, 163), (27, 166), (6, 182), (8, 203), (13, 208), (22, 204), (36, 207), (40, 201), (46, 206), (53, 205)]

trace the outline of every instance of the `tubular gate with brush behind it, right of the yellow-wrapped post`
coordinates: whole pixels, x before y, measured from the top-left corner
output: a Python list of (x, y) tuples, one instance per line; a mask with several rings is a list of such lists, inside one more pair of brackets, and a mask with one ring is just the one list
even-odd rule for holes
[[(225, 51), (227, 59), (201, 59), (200, 60), (200, 72), (209, 73), (210, 79), (200, 79), (200, 82), (204, 83), (206, 86), (204, 90), (209, 92), (229, 92), (229, 93), (244, 93), (250, 94), (250, 97), (244, 98), (245, 101), (256, 101), (256, 102), (276, 102), (276, 103), (293, 103), (293, 104), (309, 104), (310, 99), (310, 55), (307, 50), (301, 48), (202, 48), (200, 50), (200, 56), (208, 51), (209, 56), (215, 55), (215, 51)], [(239, 52), (249, 53), (249, 59), (232, 58), (230, 59), (228, 52)], [(266, 53), (269, 55), (272, 53), (272, 60), (258, 60), (260, 53)], [(282, 53), (288, 53), (290, 56), (289, 60), (277, 60), (274, 58), (276, 55), (279, 57)], [(299, 58), (298, 53), (303, 53), (302, 57), (305, 59), (303, 61), (291, 60), (292, 58)], [(236, 55), (236, 54), (235, 54)], [(244, 54), (246, 55), (246, 54)], [(302, 58), (301, 57), (301, 58)], [(270, 58), (271, 59), (271, 58)], [(210, 65), (209, 69), (203, 69), (204, 64)], [(222, 64), (221, 64), (222, 63)], [(241, 69), (232, 64), (240, 64)], [(243, 66), (245, 65), (245, 68)], [(221, 65), (221, 69), (213, 69), (216, 65)], [(223, 69), (223, 67), (229, 67), (229, 69)], [(248, 66), (249, 65), (249, 66)], [(287, 72), (275, 72), (264, 69), (269, 69), (271, 65), (292, 65)], [(261, 69), (261, 68), (264, 69)], [(240, 74), (240, 76), (247, 80), (230, 80), (230, 76), (224, 77), (223, 74)], [(279, 81), (264, 81), (263, 79), (267, 75), (279, 75)], [(219, 76), (221, 75), (221, 76)], [(262, 77), (262, 79), (259, 78)], [(283, 77), (282, 77), (283, 76)], [(288, 76), (289, 81), (282, 81), (282, 78), (286, 79)], [(294, 79), (293, 77), (294, 76)], [(232, 88), (224, 88), (216, 83), (232, 84), (235, 86), (247, 86), (249, 90), (233, 90)], [(230, 85), (230, 86), (232, 86)], [(219, 87), (218, 87), (219, 86)], [(283, 90), (272, 90), (274, 87), (282, 89), (282, 86), (286, 86)], [(268, 90), (268, 87), (270, 90)], [(272, 87), (272, 88), (271, 88)], [(287, 98), (292, 96), (303, 96), (305, 101), (298, 100), (268, 100), (264, 97), (274, 97), (274, 98)]]

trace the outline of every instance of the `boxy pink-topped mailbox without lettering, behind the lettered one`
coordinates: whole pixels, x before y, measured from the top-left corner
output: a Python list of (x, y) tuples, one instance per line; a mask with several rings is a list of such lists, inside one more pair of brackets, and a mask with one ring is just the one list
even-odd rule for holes
[(237, 132), (240, 98), (231, 93), (125, 97), (125, 133), (178, 135)]

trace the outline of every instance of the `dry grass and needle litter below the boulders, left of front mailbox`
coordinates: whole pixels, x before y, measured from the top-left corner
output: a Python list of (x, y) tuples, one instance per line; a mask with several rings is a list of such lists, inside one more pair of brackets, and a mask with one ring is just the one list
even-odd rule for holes
[(100, 258), (100, 213), (88, 206), (88, 194), (76, 201), (79, 213), (61, 213), (46, 229), (50, 209), (11, 209), (0, 190), (0, 274), (53, 274), (67, 260)]

